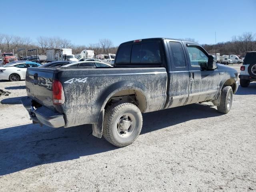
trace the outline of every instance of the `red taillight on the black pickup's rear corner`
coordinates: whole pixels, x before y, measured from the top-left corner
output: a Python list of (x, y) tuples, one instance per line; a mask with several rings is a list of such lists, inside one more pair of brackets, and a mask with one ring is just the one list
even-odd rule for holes
[(65, 95), (62, 84), (60, 81), (55, 79), (52, 81), (52, 99), (53, 104), (56, 105), (61, 105), (65, 102)]

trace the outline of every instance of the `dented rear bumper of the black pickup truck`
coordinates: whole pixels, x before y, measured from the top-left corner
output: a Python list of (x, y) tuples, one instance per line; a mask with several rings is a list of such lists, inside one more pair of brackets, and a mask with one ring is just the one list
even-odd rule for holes
[(34, 106), (32, 106), (32, 100), (29, 97), (22, 98), (21, 102), (28, 111), (31, 120), (54, 128), (65, 125), (62, 113), (54, 112), (45, 106), (34, 109)]

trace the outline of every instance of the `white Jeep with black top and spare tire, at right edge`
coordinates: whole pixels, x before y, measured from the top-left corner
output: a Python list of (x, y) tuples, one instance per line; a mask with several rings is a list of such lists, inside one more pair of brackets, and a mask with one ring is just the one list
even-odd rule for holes
[(240, 86), (248, 87), (250, 82), (256, 81), (256, 51), (246, 53), (240, 70)]

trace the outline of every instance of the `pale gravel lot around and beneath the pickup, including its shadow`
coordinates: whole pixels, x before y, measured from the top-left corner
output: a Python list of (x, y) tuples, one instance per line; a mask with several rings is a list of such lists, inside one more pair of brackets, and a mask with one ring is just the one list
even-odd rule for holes
[(144, 114), (124, 148), (90, 125), (33, 125), (19, 101), (25, 82), (0, 88), (12, 92), (0, 97), (0, 191), (256, 190), (256, 83), (239, 87), (225, 115), (211, 103)]

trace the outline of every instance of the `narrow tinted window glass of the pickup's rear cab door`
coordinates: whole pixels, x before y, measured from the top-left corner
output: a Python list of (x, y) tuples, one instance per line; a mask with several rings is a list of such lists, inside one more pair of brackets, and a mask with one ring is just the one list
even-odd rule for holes
[(170, 42), (170, 47), (172, 50), (172, 58), (174, 61), (174, 66), (185, 67), (186, 66), (185, 56), (184, 56), (184, 51), (182, 49), (182, 45), (180, 44), (180, 42)]

